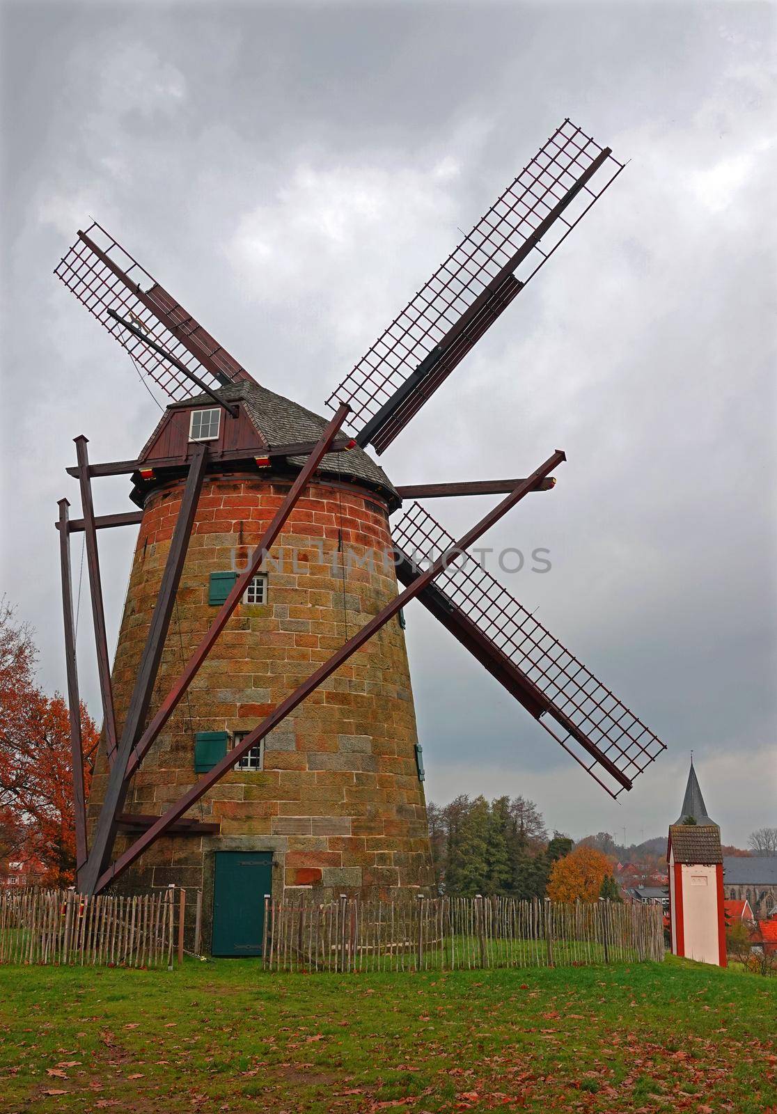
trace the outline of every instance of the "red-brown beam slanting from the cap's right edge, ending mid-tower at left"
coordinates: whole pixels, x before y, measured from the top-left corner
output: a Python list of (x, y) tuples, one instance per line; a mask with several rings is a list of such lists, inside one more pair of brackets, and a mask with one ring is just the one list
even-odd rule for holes
[(170, 715), (173, 714), (176, 705), (186, 693), (186, 690), (191, 684), (191, 681), (197, 675), (200, 665), (203, 664), (207, 655), (210, 653), (214, 643), (218, 638), (224, 627), (227, 625), (230, 615), (233, 614), (233, 612), (239, 604), (240, 599), (243, 598), (246, 588), (250, 584), (250, 580), (258, 571), (262, 561), (265, 559), (265, 557), (269, 553), (273, 543), (281, 534), (281, 530), (283, 529), (286, 519), (292, 514), (292, 510), (296, 506), (297, 500), (299, 499), (302, 492), (307, 486), (308, 480), (315, 473), (316, 468), (318, 467), (325, 455), (330, 451), (332, 442), (334, 441), (340, 427), (345, 421), (348, 410), (350, 407), (342, 405), (337, 410), (337, 413), (334, 416), (332, 421), (324, 429), (321, 440), (317, 442), (314, 451), (305, 461), (305, 465), (303, 466), (297, 478), (292, 485), (288, 494), (286, 495), (286, 498), (275, 512), (273, 521), (265, 530), (258, 546), (252, 554), (250, 560), (248, 561), (245, 571), (242, 573), (240, 576), (238, 576), (237, 580), (235, 582), (232, 592), (229, 593), (224, 604), (222, 605), (222, 608), (216, 615), (216, 618), (213, 620), (210, 629), (205, 635), (200, 644), (197, 646), (197, 649), (194, 652), (194, 654), (187, 662), (184, 672), (180, 674), (174, 686), (170, 688), (169, 693), (163, 701), (159, 711), (149, 723), (148, 727), (142, 734), (142, 737), (138, 741), (138, 744), (135, 747), (135, 751), (127, 766), (127, 778), (131, 776), (136, 766), (142, 760), (149, 746), (151, 746), (154, 740), (163, 730), (163, 727), (169, 720)]

